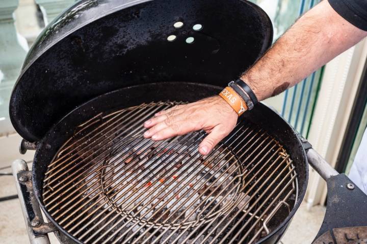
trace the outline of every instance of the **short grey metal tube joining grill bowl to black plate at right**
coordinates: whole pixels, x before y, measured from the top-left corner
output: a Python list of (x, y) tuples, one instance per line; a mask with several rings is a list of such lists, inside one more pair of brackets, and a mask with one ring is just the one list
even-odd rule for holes
[(320, 154), (318, 154), (318, 152), (316, 150), (314, 150), (313, 148), (309, 148), (306, 150), (306, 155), (307, 155), (307, 159), (308, 159), (308, 163), (312, 166), (312, 168), (314, 170), (316, 170), (320, 176), (327, 180), (328, 178), (330, 178), (331, 176), (335, 176), (338, 175), (339, 173), (333, 168), (331, 167), (330, 164), (328, 164), (328, 162), (325, 161), (325, 159), (323, 159), (321, 157)]

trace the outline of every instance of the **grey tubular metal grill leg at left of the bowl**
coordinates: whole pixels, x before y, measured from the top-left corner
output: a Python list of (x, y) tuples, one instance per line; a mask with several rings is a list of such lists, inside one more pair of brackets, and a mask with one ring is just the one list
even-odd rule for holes
[(27, 191), (27, 184), (32, 184), (30, 177), (31, 174), (28, 170), (27, 163), (25, 163), (23, 160), (15, 160), (13, 162), (12, 169), (30, 243), (50, 244), (47, 234), (40, 234), (36, 236), (33, 229), (33, 226), (40, 226), (41, 223), (43, 223), (43, 220), (38, 219), (42, 218), (42, 214), (41, 209), (33, 196), (33, 192), (31, 191), (28, 192), (28, 194), (24, 194), (25, 191)]

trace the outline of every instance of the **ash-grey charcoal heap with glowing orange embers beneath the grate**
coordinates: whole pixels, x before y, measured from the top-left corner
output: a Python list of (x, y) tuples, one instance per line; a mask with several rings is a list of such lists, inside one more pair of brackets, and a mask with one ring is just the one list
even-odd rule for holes
[[(216, 157), (220, 156), (219, 151), (210, 158), (201, 158), (202, 156), (195, 155), (197, 151), (192, 152), (188, 156), (186, 154), (188, 147), (186, 146), (181, 147), (177, 145), (169, 147), (168, 143), (163, 143), (158, 147), (151, 145), (144, 146), (144, 148), (139, 147), (137, 145), (135, 148), (126, 148), (123, 153), (113, 156), (110, 159), (111, 162), (113, 161), (113, 166), (106, 168), (106, 172), (111, 171), (111, 173), (106, 173), (105, 175), (113, 175), (109, 183), (111, 186), (108, 188), (111, 190), (111, 200), (115, 201), (119, 209), (128, 212), (130, 215), (135, 215), (139, 219), (177, 224), (184, 220), (185, 222), (194, 222), (199, 217), (205, 218), (205, 215), (209, 212), (218, 211), (224, 204), (232, 202), (233, 193), (219, 203), (233, 186), (233, 182), (230, 181), (233, 179), (233, 176), (223, 173), (229, 167), (228, 162), (216, 159)], [(162, 150), (162, 148), (164, 149)], [(158, 153), (158, 151), (160, 152)], [(182, 155), (180, 155), (181, 153)], [(150, 154), (149, 158), (146, 157), (148, 154)], [(130, 165), (118, 167), (122, 164)], [(218, 166), (214, 167), (215, 164), (218, 164)], [(225, 167), (222, 167), (224, 165)], [(124, 171), (123, 167), (129, 168), (129, 170)], [(222, 168), (220, 169), (220, 167)], [(194, 168), (196, 168), (195, 171), (192, 170)], [(235, 167), (233, 166), (232, 168)], [(218, 171), (219, 169), (220, 171)], [(215, 173), (215, 171), (218, 172)], [(152, 177), (153, 175), (154, 177)], [(194, 175), (196, 176), (193, 177)], [(214, 181), (216, 181), (215, 184), (213, 184)], [(218, 193), (223, 188), (218, 186), (222, 184), (225, 185), (227, 191), (224, 191), (219, 196)], [(185, 188), (180, 190), (184, 185)], [(218, 189), (216, 190), (217, 187)], [(234, 190), (232, 191), (234, 192)], [(113, 196), (113, 194), (116, 195)], [(203, 195), (199, 198), (201, 194)], [(203, 202), (204, 199), (205, 202)], [(108, 203), (104, 207), (111, 208), (112, 206)], [(248, 204), (246, 207), (248, 207)], [(174, 220), (175, 222), (173, 222)], [(133, 224), (128, 224), (125, 227), (126, 230)], [(138, 232), (135, 233), (136, 235), (131, 241), (146, 230), (142, 228), (138, 231), (139, 227), (140, 225), (136, 225), (132, 231), (129, 231), (129, 234)], [(185, 243), (195, 244), (202, 241), (204, 235), (198, 237), (195, 242), (191, 242), (197, 238), (197, 234), (200, 231), (191, 235), (190, 240)], [(151, 233), (148, 232), (147, 237)], [(160, 233), (162, 232), (157, 232), (156, 236), (159, 236)], [(167, 231), (161, 238), (161, 241), (168, 237), (170, 233), (171, 231)], [(175, 233), (168, 240), (168, 243), (178, 237), (180, 233), (180, 231)], [(183, 242), (189, 233), (190, 231), (182, 234), (178, 239), (178, 243)], [(153, 239), (155, 237), (151, 238), (150, 241)], [(209, 237), (206, 242), (210, 242), (212, 239), (213, 237)], [(141, 238), (136, 243), (143, 241), (144, 238)]]

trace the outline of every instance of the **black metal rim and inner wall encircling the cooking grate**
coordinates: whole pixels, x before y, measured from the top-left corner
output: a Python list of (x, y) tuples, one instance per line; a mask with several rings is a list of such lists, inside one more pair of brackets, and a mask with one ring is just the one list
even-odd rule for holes
[[(174, 87), (174, 89), (169, 89), (167, 87)], [(152, 90), (154, 90), (155, 93), (151, 93)], [(187, 93), (184, 93), (185, 95), (183, 95), (182, 93), (176, 93), (177, 90), (187, 90)], [(60, 148), (62, 143), (64, 143), (66, 139), (68, 139), (70, 135), (72, 135), (74, 128), (77, 125), (80, 125), (81, 122), (90, 119), (92, 116), (97, 115), (99, 112), (107, 113), (108, 111), (115, 110), (116, 108), (123, 109), (130, 106), (136, 106), (144, 102), (159, 102), (162, 98), (170, 101), (180, 100), (194, 102), (198, 99), (216, 95), (221, 90), (222, 87), (219, 86), (190, 82), (164, 82), (136, 85), (100, 95), (69, 112), (66, 116), (60, 119), (59, 122), (55, 124), (53, 128), (51, 128), (49, 132), (41, 139), (34, 156), (34, 163), (32, 167), (32, 182), (34, 186), (33, 192), (46, 218), (51, 223), (53, 223), (62, 232), (62, 234), (66, 235), (75, 243), (84, 244), (80, 240), (70, 235), (64, 228), (62, 228), (58, 224), (57, 221), (53, 219), (53, 217), (51, 217), (51, 215), (45, 208), (42, 200), (43, 178), (45, 175), (44, 172), (46, 171), (45, 167), (47, 167), (47, 165), (54, 159), (58, 148)], [(149, 93), (149, 96), (146, 96), (147, 93)], [(129, 95), (126, 96), (126, 94)], [(136, 96), (131, 96), (132, 94)], [(132, 99), (130, 99), (130, 96), (135, 98), (134, 102), (132, 101)], [(116, 98), (119, 98), (120, 100)], [(113, 106), (111, 106), (111, 101), (114, 101)], [(116, 104), (116, 101), (119, 102), (117, 102)], [(253, 110), (248, 111), (247, 113), (245, 113), (245, 116), (240, 117), (239, 119), (243, 120), (244, 118), (249, 119), (251, 122), (259, 125), (261, 128), (265, 128), (265, 130), (267, 130), (270, 135), (273, 135), (279, 142), (282, 143), (283, 147), (287, 151), (289, 151), (289, 154), (292, 158), (298, 159), (298, 161), (294, 161), (296, 172), (299, 176), (298, 202), (295, 203), (290, 214), (278, 225), (277, 228), (275, 228), (270, 234), (256, 242), (274, 243), (280, 240), (281, 236), (284, 234), (286, 227), (290, 224), (290, 221), (292, 220), (295, 212), (298, 210), (305, 196), (308, 182), (308, 161), (305, 150), (302, 146), (302, 142), (297, 136), (297, 133), (292, 128), (292, 126), (290, 126), (287, 121), (285, 121), (275, 111), (268, 108), (266, 105), (259, 103)], [(286, 134), (289, 136), (293, 136), (291, 138), (286, 138), (285, 142), (284, 140), (279, 140), (278, 133), (272, 130), (268, 130), (269, 123), (267, 123), (266, 121), (272, 121), (273, 125), (277, 124), (277, 126), (280, 126), (281, 129), (278, 129), (284, 131), (284, 136), (286, 136)], [(61, 140), (60, 132), (64, 132), (64, 138), (66, 138), (65, 140)], [(54, 146), (54, 148), (52, 146), (50, 147), (51, 144), (49, 142), (55, 141), (58, 141), (59, 143), (60, 141), (62, 142), (60, 145)], [(293, 144), (293, 146), (290, 144)], [(302, 172), (302, 170), (304, 170), (304, 172)]]

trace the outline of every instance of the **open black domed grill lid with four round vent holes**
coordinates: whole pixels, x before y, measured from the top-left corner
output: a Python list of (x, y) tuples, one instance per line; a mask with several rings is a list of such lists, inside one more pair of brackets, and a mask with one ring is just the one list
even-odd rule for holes
[[(183, 26), (175, 28), (178, 21)], [(195, 24), (202, 29), (194, 31)], [(34, 43), (11, 95), (10, 118), (23, 138), (38, 141), (78, 105), (121, 87), (225, 86), (264, 54), (272, 36), (267, 14), (242, 0), (82, 0)]]

